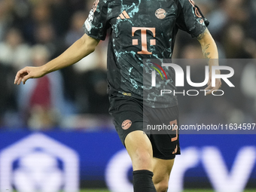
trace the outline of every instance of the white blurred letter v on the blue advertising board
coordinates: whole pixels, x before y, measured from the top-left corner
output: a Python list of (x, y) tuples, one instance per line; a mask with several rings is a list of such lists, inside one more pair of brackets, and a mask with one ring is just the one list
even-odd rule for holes
[(254, 167), (256, 148), (254, 146), (240, 148), (230, 171), (228, 171), (218, 148), (203, 148), (202, 157), (203, 166), (215, 191), (242, 192)]

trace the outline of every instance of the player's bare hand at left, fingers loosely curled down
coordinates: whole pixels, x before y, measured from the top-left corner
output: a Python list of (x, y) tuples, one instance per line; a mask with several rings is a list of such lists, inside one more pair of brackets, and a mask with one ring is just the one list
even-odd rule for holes
[(21, 81), (23, 81), (23, 84), (26, 83), (26, 81), (29, 78), (41, 78), (44, 76), (44, 72), (40, 67), (25, 67), (23, 69), (20, 69), (19, 72), (17, 72), (17, 75), (14, 80), (14, 84), (20, 84)]

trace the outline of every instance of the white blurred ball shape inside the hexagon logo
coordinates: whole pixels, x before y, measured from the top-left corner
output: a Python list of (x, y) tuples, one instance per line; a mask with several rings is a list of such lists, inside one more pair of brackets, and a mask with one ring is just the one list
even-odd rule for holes
[(20, 192), (57, 192), (62, 181), (56, 158), (42, 151), (23, 157), (14, 172), (14, 185)]

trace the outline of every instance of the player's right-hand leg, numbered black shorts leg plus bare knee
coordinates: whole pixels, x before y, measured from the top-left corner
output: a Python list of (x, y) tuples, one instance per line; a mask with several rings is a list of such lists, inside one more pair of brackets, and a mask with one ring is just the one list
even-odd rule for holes
[(153, 148), (154, 185), (157, 192), (166, 192), (169, 175), (172, 170), (175, 155), (180, 154), (178, 139), (178, 107), (152, 109), (151, 123), (154, 125), (169, 125), (170, 130), (151, 130), (151, 145)]

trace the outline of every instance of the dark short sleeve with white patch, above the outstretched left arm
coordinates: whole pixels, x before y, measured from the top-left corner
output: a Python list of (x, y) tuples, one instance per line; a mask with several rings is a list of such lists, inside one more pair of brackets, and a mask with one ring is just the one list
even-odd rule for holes
[(84, 22), (84, 32), (92, 38), (105, 40), (108, 29), (108, 1), (95, 0), (87, 20)]

